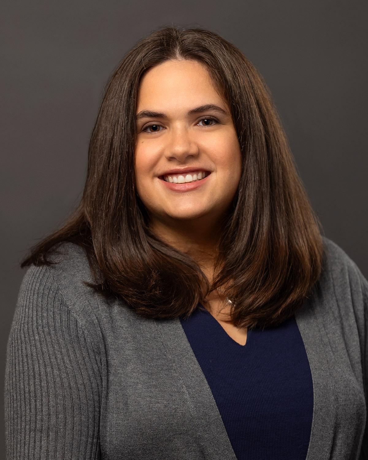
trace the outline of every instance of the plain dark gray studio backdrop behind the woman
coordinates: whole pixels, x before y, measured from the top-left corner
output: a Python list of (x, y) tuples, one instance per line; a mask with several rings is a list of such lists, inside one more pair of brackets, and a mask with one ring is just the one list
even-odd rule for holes
[(104, 83), (160, 25), (212, 29), (255, 64), (326, 236), (368, 277), (367, 12), (365, 0), (3, 2), (2, 377), (18, 263), (79, 200)]

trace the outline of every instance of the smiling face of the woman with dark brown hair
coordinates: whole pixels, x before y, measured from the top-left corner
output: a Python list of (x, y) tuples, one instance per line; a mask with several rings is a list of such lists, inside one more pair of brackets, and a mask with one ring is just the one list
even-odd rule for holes
[[(219, 109), (198, 109), (203, 105)], [(139, 86), (137, 115), (135, 179), (151, 222), (217, 222), (236, 194), (242, 156), (229, 107), (207, 69), (193, 60), (170, 60), (150, 69)], [(192, 185), (180, 182), (190, 180), (188, 174), (193, 178), (193, 172), (183, 173), (178, 184), (162, 178), (185, 168), (211, 174)], [(174, 182), (178, 177), (168, 175)]]

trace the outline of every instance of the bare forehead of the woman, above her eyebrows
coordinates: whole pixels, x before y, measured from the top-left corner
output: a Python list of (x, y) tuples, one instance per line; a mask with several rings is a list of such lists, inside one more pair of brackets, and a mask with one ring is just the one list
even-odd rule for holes
[(143, 75), (138, 88), (137, 112), (209, 103), (224, 105), (207, 68), (197, 61), (161, 63)]

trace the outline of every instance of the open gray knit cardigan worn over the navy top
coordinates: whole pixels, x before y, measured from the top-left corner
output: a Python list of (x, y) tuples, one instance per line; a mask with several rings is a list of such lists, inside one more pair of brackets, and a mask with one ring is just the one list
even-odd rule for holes
[[(325, 269), (295, 315), (314, 391), (307, 460), (362, 460), (368, 282), (323, 241)], [(92, 282), (83, 250), (63, 251), (59, 265), (29, 267), (20, 287), (6, 350), (7, 458), (235, 460), (180, 320), (106, 302), (81, 283)]]

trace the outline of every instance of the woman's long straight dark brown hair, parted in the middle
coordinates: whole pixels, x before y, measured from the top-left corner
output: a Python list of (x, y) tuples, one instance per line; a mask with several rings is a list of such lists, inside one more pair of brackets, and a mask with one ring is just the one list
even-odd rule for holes
[[(221, 222), (212, 286), (188, 254), (149, 227), (134, 180), (136, 103), (144, 73), (169, 59), (204, 64), (227, 101), (242, 152), (242, 176), (231, 213)], [(63, 242), (84, 248), (97, 293), (138, 315), (187, 317), (222, 288), (231, 322), (276, 326), (293, 316), (322, 271), (322, 225), (297, 173), (272, 96), (244, 54), (199, 27), (162, 26), (123, 57), (105, 88), (92, 131), (81, 202), (62, 228), (21, 263), (50, 265)]]

